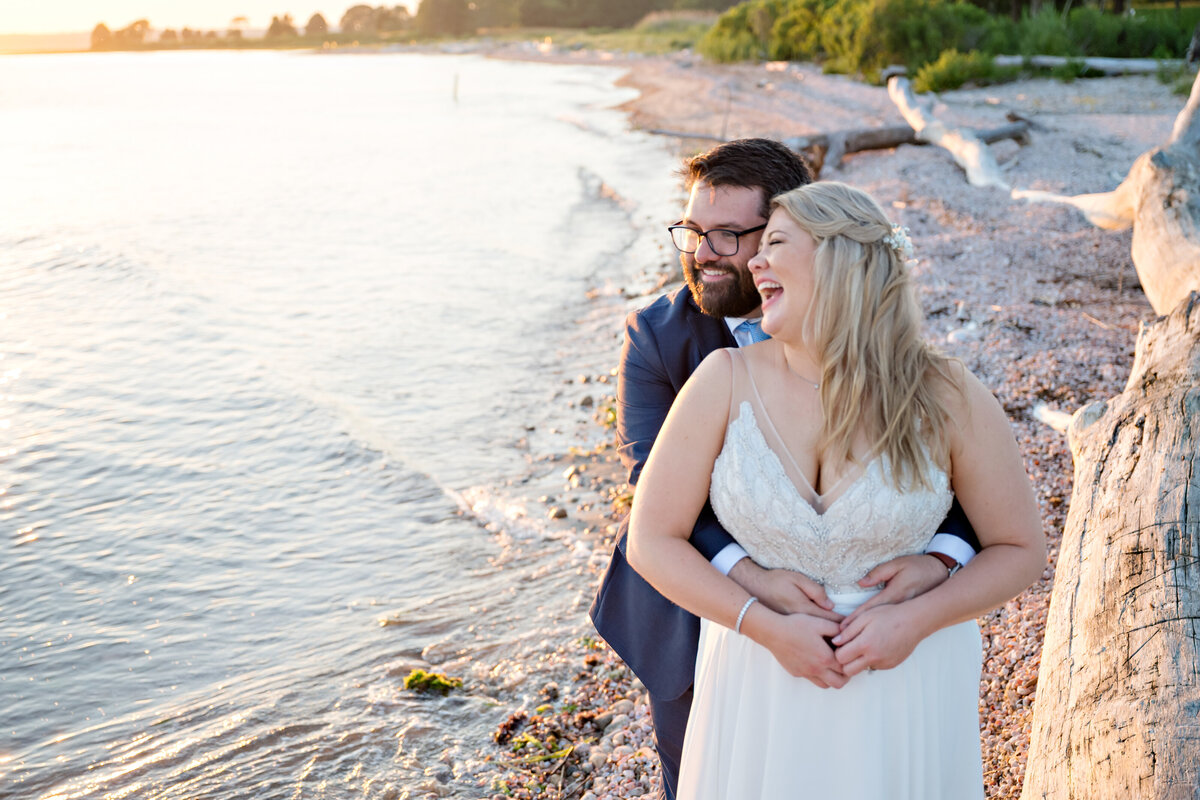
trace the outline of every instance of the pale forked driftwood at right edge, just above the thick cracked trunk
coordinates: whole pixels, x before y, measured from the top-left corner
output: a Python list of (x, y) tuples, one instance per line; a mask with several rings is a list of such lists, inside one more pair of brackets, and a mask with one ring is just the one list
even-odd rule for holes
[(1142, 154), (1112, 192), (1074, 198), (1014, 191), (1036, 203), (1067, 203), (1100, 228), (1133, 225), (1133, 265), (1154, 311), (1165, 314), (1200, 289), (1200, 74), (1171, 138)]

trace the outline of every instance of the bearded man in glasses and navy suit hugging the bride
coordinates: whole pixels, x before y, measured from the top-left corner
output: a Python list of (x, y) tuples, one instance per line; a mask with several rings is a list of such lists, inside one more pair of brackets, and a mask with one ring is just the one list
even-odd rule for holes
[[(671, 403), (713, 350), (764, 338), (758, 293), (746, 266), (758, 249), (770, 198), (812, 181), (804, 161), (778, 142), (739, 139), (684, 162), (689, 190), (683, 219), (671, 234), (680, 251), (686, 288), (659, 297), (626, 319), (617, 380), (617, 439), (630, 486)], [(628, 518), (592, 603), (592, 621), (646, 685), (662, 765), (666, 798), (674, 798), (679, 757), (691, 710), (700, 620), (654, 590), (625, 560)], [(710, 506), (696, 521), (691, 543), (713, 566), (781, 613), (840, 619), (823, 589), (786, 570), (764, 570), (721, 528)], [(925, 555), (883, 564), (864, 581), (886, 583), (870, 601), (900, 602), (928, 591), (978, 549), (958, 503)]]

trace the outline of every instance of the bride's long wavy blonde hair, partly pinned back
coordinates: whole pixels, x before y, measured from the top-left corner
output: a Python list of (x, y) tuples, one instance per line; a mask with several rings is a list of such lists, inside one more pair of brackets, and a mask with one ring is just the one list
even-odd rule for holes
[[(896, 488), (931, 488), (930, 458), (949, 471), (949, 410), (940, 381), (958, 387), (950, 359), (922, 336), (923, 314), (892, 223), (869, 194), (838, 182), (772, 200), (817, 243), (805, 343), (821, 363), (821, 449), (854, 459), (865, 429)], [(928, 450), (926, 450), (928, 447)]]

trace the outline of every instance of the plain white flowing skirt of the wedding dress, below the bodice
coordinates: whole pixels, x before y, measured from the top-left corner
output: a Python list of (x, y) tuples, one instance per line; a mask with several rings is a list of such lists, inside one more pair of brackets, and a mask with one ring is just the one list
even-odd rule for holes
[[(846, 614), (874, 593), (833, 596)], [(679, 800), (982, 800), (982, 642), (943, 628), (894, 669), (842, 688), (702, 621)]]

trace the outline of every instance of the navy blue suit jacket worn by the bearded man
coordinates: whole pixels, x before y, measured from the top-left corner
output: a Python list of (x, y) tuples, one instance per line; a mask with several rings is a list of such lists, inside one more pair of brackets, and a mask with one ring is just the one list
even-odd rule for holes
[[(671, 403), (691, 373), (713, 350), (737, 347), (724, 319), (700, 311), (683, 287), (659, 297), (625, 320), (625, 344), (617, 379), (617, 443), (636, 486)], [(940, 528), (978, 540), (955, 501)], [(592, 603), (596, 631), (616, 650), (650, 694), (673, 699), (688, 691), (696, 669), (700, 619), (660, 595), (625, 560), (629, 518), (622, 523), (612, 561)], [(691, 543), (712, 560), (734, 540), (704, 504)]]

